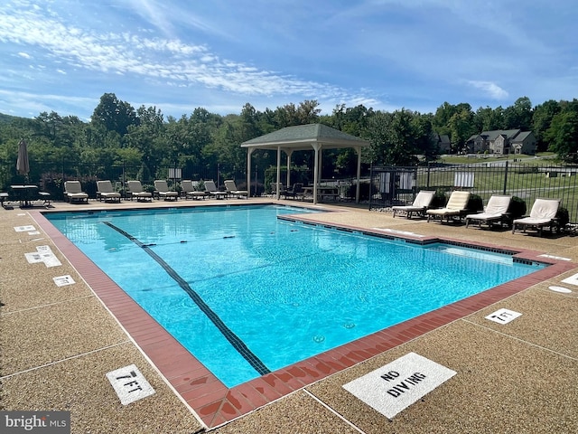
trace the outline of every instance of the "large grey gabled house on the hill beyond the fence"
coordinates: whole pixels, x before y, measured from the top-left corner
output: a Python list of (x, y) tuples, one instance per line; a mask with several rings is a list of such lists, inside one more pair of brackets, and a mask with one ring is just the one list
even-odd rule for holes
[(478, 154), (488, 151), (489, 154), (505, 156), (508, 154), (536, 154), (536, 136), (532, 131), (521, 129), (496, 129), (482, 131), (471, 136), (466, 147), (468, 153)]

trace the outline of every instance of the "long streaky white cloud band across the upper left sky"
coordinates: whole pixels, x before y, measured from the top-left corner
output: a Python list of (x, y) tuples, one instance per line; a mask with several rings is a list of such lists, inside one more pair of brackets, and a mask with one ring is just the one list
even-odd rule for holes
[[(145, 3), (143, 14), (154, 15), (158, 6)], [(158, 18), (157, 26), (165, 27)], [(68, 67), (100, 73), (129, 74), (135, 79), (165, 80), (173, 86), (202, 84), (225, 92), (249, 96), (319, 95), (345, 93), (337, 87), (290, 75), (259, 70), (254, 65), (221, 60), (204, 45), (177, 39), (146, 38), (135, 33), (96, 33), (62, 24), (31, 11), (6, 14), (0, 20), (0, 40), (42, 49)], [(363, 99), (351, 95), (350, 99)]]

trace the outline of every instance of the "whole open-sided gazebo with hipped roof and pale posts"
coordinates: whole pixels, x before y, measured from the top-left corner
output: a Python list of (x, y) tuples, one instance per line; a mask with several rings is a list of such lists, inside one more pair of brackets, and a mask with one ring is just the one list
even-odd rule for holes
[[(322, 150), (352, 147), (358, 154), (356, 202), (359, 202), (359, 177), (361, 176), (361, 148), (368, 147), (369, 142), (359, 137), (351, 136), (338, 129), (322, 124), (299, 125), (284, 127), (265, 136), (252, 138), (243, 142), (241, 147), (247, 147), (247, 185), (251, 184), (251, 154), (256, 149), (277, 151), (277, 185), (281, 182), (281, 151), (287, 155), (287, 186), (291, 184), (291, 155), (294, 151), (312, 150), (315, 153), (313, 167), (313, 203), (317, 203), (317, 187), (321, 176)], [(280, 197), (276, 189), (277, 200)]]

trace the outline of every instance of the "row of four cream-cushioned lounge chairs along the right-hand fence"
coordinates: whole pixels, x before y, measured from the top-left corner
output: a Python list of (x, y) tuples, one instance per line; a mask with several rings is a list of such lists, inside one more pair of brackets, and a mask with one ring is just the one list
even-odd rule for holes
[(536, 199), (529, 216), (511, 221), (508, 209), (512, 201), (512, 196), (494, 194), (489, 198), (488, 204), (485, 206), (483, 212), (468, 213), (469, 192), (452, 192), (448, 203), (443, 208), (431, 209), (430, 205), (433, 202), (434, 193), (435, 192), (423, 190), (417, 193), (414, 203), (411, 205), (394, 206), (392, 208), (394, 218), (399, 212), (405, 212), (408, 219), (414, 214), (422, 217), (427, 216), (428, 222), (435, 218), (439, 218), (441, 222), (443, 222), (443, 219), (450, 222), (451, 219), (455, 219), (456, 217), (459, 218), (460, 221), (462, 218), (465, 218), (466, 228), (471, 222), (477, 222), (479, 226), (481, 226), (481, 224), (491, 226), (495, 223), (499, 223), (500, 225), (509, 223), (512, 227), (512, 233), (514, 233), (516, 229), (526, 231), (531, 228), (536, 229), (540, 236), (542, 236), (544, 228), (548, 227), (550, 231), (552, 231), (557, 224), (556, 214), (560, 207), (560, 201), (558, 199)]

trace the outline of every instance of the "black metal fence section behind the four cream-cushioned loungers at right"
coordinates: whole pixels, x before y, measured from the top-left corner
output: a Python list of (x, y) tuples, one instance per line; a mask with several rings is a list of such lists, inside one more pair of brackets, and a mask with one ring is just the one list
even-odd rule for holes
[(378, 166), (371, 169), (369, 208), (412, 203), (420, 190), (466, 190), (487, 203), (492, 194), (523, 199), (529, 212), (536, 198), (560, 199), (570, 222), (578, 222), (578, 166), (523, 164), (499, 161), (472, 165), (414, 167)]

